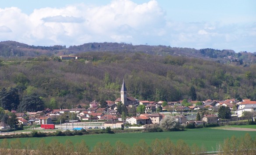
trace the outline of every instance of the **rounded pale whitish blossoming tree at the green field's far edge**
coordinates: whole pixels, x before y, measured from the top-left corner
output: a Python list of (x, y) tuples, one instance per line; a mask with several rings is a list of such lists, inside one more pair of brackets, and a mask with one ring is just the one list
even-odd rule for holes
[(160, 127), (166, 131), (179, 130), (180, 123), (175, 117), (167, 115), (160, 121)]

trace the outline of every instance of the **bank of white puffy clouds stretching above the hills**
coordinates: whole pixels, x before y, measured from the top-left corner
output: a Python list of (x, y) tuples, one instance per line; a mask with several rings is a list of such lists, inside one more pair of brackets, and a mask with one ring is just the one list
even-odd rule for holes
[(114, 0), (104, 6), (46, 7), (35, 9), (32, 14), (9, 7), (0, 9), (0, 19), (1, 41), (36, 46), (127, 42), (256, 52), (256, 23), (171, 21), (156, 0), (144, 4)]

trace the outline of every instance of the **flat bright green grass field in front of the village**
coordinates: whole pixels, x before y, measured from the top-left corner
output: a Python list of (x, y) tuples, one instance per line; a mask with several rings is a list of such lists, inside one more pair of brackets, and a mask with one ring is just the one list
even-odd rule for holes
[[(232, 137), (242, 137), (245, 133), (249, 133), (252, 139), (256, 139), (256, 131), (234, 131), (234, 130), (217, 130), (212, 128), (201, 128), (201, 129), (190, 129), (185, 131), (175, 131), (175, 132), (158, 132), (158, 133), (122, 133), (122, 134), (93, 134), (93, 135), (83, 135), (83, 136), (64, 136), (64, 137), (42, 137), (45, 139), (46, 143), (49, 143), (53, 139), (64, 143), (67, 139), (71, 140), (73, 144), (81, 142), (84, 140), (86, 144), (93, 148), (94, 145), (99, 141), (109, 141), (110, 144), (114, 145), (116, 141), (123, 141), (126, 144), (133, 145), (134, 143), (144, 140), (147, 144), (151, 141), (158, 139), (169, 138), (171, 141), (176, 143), (178, 140), (182, 139), (188, 145), (197, 144), (198, 146), (204, 146), (207, 151), (216, 151), (216, 146), (218, 143), (222, 143), (225, 138)], [(30, 141), (36, 142), (42, 138), (29, 138)], [(14, 141), (15, 139), (8, 139), (8, 141)], [(28, 138), (20, 138), (21, 143), (25, 143)], [(2, 139), (0, 140), (0, 142)]]

